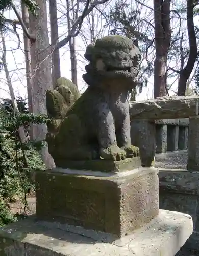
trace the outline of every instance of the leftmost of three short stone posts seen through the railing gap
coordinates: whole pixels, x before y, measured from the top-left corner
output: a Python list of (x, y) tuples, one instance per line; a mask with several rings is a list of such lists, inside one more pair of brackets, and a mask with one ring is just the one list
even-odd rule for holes
[(167, 151), (167, 124), (156, 125), (156, 153)]

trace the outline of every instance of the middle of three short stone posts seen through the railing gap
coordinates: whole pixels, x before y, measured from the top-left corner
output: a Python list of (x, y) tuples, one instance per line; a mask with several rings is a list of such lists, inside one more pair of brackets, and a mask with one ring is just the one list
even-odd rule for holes
[(178, 150), (179, 126), (167, 125), (167, 151)]

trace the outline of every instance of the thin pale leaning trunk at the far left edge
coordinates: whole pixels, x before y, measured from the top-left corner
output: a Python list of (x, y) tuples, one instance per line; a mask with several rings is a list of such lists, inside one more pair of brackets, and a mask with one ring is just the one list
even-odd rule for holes
[[(2, 30), (1, 30), (1, 38), (2, 38), (2, 46), (3, 46), (2, 62), (3, 62), (4, 71), (5, 71), (5, 75), (6, 75), (6, 81), (8, 83), (8, 88), (9, 88), (10, 97), (11, 97), (12, 104), (13, 104), (14, 113), (17, 113), (17, 112), (19, 112), (19, 109), (17, 106), (17, 101), (15, 99), (14, 90), (12, 87), (12, 81), (10, 78), (10, 73), (8, 70), (7, 62), (6, 62), (6, 42), (5, 42), (4, 32)], [(27, 137), (26, 137), (26, 132), (24, 131), (23, 126), (19, 127), (18, 133), (19, 133), (21, 142), (25, 143), (27, 141)]]

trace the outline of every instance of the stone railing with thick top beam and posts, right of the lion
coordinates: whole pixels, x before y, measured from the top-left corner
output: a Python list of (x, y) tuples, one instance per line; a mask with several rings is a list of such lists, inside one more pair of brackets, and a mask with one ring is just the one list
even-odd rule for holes
[(198, 102), (199, 97), (194, 96), (131, 103), (132, 144), (140, 148), (143, 166), (153, 165), (156, 152), (188, 147), (187, 169), (199, 170)]

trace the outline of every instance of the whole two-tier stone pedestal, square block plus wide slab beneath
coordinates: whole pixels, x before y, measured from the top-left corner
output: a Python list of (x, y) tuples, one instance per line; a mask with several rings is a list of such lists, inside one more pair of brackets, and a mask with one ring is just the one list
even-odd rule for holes
[(0, 229), (0, 255), (175, 256), (191, 216), (159, 210), (157, 169), (117, 169), (36, 172), (36, 216)]

